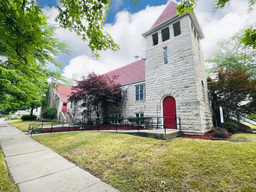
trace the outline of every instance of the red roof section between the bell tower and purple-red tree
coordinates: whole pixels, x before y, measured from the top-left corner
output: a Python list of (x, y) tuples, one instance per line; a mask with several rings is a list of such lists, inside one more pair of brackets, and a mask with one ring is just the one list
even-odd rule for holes
[(120, 83), (121, 85), (143, 80), (145, 79), (145, 60), (141, 59), (135, 61), (108, 73), (104, 73), (103, 75), (112, 77), (115, 74), (119, 75), (116, 83)]

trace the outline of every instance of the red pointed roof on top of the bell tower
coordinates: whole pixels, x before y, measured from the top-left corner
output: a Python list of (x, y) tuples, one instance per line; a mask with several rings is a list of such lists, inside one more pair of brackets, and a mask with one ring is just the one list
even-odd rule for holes
[(177, 6), (177, 3), (170, 1), (152, 27), (155, 27), (172, 16), (177, 15)]

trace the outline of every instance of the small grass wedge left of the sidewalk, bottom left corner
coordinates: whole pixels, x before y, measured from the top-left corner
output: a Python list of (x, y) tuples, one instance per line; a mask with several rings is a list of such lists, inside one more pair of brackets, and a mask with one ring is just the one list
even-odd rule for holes
[(2, 150), (0, 149), (0, 192), (18, 192), (18, 187), (9, 177)]

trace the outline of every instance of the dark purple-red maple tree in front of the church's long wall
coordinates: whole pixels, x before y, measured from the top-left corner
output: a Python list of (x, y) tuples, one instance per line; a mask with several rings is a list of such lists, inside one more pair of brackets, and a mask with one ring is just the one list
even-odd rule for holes
[(87, 77), (83, 76), (77, 85), (72, 87), (69, 101), (75, 104), (82, 102), (80, 108), (85, 108), (82, 115), (90, 115), (95, 112), (98, 119), (102, 118), (104, 110), (109, 104), (117, 104), (117, 99), (121, 97), (122, 89), (119, 83), (115, 83), (118, 75), (108, 77), (97, 75), (91, 72)]

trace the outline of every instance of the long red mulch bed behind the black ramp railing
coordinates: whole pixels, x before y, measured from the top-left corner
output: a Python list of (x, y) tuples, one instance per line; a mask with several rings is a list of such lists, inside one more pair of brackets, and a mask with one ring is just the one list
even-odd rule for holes
[[(116, 130), (116, 125), (100, 125), (100, 130)], [(118, 130), (138, 130), (138, 126), (137, 127), (132, 127), (129, 125), (128, 129), (127, 129), (127, 125), (117, 125), (117, 129)], [(144, 129), (144, 127), (139, 127), (139, 130)], [(84, 127), (83, 131), (89, 131), (89, 130), (99, 130), (99, 125), (94, 125), (94, 126), (88, 126), (88, 127)], [(57, 131), (82, 131), (82, 128), (80, 127), (55, 127), (53, 128), (53, 132), (57, 132)], [(47, 128), (47, 129), (42, 129), (42, 132), (51, 132), (51, 128)]]

